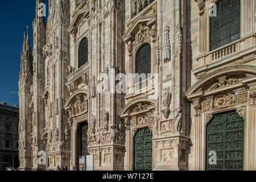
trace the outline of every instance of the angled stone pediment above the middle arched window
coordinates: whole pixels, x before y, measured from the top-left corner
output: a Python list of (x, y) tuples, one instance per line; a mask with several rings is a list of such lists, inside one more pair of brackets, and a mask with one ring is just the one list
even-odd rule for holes
[(134, 34), (136, 31), (140, 30), (141, 28), (144, 30), (144, 26), (152, 26), (155, 21), (156, 14), (138, 16), (138, 18), (136, 18), (133, 23), (131, 23), (128, 30), (125, 32), (125, 35), (123, 35), (123, 41), (128, 42), (129, 40), (134, 40)]

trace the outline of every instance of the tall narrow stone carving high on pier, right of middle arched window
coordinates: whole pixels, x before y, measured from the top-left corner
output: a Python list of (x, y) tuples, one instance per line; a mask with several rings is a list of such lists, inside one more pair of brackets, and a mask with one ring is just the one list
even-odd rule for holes
[(170, 28), (164, 27), (164, 40), (163, 40), (163, 61), (168, 63), (171, 60), (171, 43), (170, 43)]

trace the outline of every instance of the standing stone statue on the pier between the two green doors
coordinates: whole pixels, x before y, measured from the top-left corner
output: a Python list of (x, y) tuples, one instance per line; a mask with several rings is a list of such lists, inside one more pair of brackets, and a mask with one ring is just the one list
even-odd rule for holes
[(170, 87), (166, 87), (163, 89), (162, 92), (162, 105), (163, 105), (163, 109), (162, 109), (162, 113), (164, 115), (164, 117), (168, 118), (170, 115), (170, 104), (171, 104), (171, 89)]

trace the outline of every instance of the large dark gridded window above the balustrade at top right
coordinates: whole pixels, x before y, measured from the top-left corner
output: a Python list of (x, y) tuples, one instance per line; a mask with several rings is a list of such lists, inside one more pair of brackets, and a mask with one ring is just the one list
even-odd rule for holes
[(210, 18), (210, 50), (240, 39), (240, 0), (220, 0), (217, 16)]

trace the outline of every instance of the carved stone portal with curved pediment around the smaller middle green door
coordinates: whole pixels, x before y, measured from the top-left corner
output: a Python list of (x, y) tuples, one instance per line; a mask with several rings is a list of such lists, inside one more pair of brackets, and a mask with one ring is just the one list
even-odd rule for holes
[[(150, 133), (157, 135), (158, 134), (158, 121), (159, 116), (155, 113), (155, 102), (152, 100), (148, 100), (147, 97), (138, 98), (137, 100), (132, 100), (131, 102), (127, 103), (123, 109), (120, 111), (120, 116), (124, 119), (125, 127), (126, 127), (126, 161), (127, 161), (127, 170), (134, 170), (134, 169), (147, 169), (148, 165), (144, 167), (140, 167), (142, 163), (139, 163), (138, 160), (135, 158), (136, 151), (136, 134), (141, 134), (141, 131), (147, 129)], [(146, 135), (145, 135), (146, 137)], [(143, 142), (144, 143), (144, 142)], [(146, 142), (148, 143), (148, 142)], [(150, 143), (150, 142), (149, 142)], [(151, 137), (151, 147), (152, 147), (152, 137)], [(135, 151), (136, 150), (136, 151)], [(137, 154), (136, 154), (137, 155)], [(151, 148), (151, 155), (144, 155), (144, 156), (151, 156), (152, 157), (152, 148)], [(142, 158), (144, 159), (144, 156)], [(135, 162), (137, 161), (137, 162)], [(149, 164), (149, 163), (147, 163)], [(136, 165), (136, 166), (135, 166)], [(152, 159), (151, 159), (151, 166), (152, 169)]]

